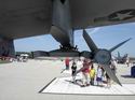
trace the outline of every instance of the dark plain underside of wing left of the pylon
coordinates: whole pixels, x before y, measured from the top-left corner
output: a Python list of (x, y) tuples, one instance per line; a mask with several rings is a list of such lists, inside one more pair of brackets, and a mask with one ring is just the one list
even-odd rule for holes
[(18, 39), (49, 33), (51, 0), (0, 0), (0, 35)]

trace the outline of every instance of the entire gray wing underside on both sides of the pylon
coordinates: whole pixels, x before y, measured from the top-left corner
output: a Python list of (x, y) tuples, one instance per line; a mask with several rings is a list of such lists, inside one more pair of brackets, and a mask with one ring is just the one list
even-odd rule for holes
[[(18, 39), (49, 33), (52, 4), (52, 0), (0, 0), (0, 35)], [(69, 8), (73, 29), (135, 20), (135, 0), (69, 0)]]

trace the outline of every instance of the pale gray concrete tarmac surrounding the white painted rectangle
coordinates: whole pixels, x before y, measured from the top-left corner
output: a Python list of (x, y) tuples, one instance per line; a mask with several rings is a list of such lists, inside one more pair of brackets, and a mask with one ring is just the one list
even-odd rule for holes
[[(60, 60), (28, 60), (28, 62), (0, 63), (0, 100), (134, 100), (135, 95), (79, 95), (79, 94), (43, 94), (56, 78), (68, 77), (63, 72), (64, 61)], [(117, 75), (122, 84), (132, 84), (131, 67), (119, 65)], [(54, 81), (55, 80), (55, 81)], [(116, 84), (114, 84), (116, 85)], [(63, 86), (60, 86), (63, 88)], [(59, 87), (59, 89), (60, 89)], [(85, 87), (86, 88), (86, 87)], [(90, 88), (90, 87), (87, 87)], [(94, 87), (99, 90), (98, 87)], [(131, 87), (132, 88), (132, 87)], [(134, 89), (133, 89), (134, 90)], [(69, 92), (69, 91), (68, 91)], [(72, 92), (72, 90), (70, 91)], [(78, 90), (79, 92), (79, 90)], [(83, 92), (83, 91), (80, 91)]]

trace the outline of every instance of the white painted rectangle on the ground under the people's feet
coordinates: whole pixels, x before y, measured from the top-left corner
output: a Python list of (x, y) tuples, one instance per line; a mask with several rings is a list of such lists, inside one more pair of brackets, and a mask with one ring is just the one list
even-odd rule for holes
[[(79, 77), (77, 77), (79, 80)], [(80, 87), (78, 84), (71, 83), (72, 77), (57, 77), (53, 78), (44, 88), (40, 90), (40, 94), (55, 94), (55, 95), (135, 95), (135, 84), (117, 84), (111, 85), (110, 88), (87, 86)]]

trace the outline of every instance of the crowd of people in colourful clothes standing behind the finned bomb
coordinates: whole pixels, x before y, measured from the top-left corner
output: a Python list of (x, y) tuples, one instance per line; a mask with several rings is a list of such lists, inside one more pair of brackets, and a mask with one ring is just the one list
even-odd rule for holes
[[(69, 70), (69, 59), (65, 60), (66, 70)], [(116, 62), (111, 60), (109, 67), (112, 72), (116, 74)], [(81, 73), (82, 84), (81, 87), (85, 86), (104, 86), (103, 83), (107, 84), (107, 87), (111, 87), (111, 78), (109, 77), (108, 73), (104, 70), (103, 65), (94, 66), (91, 59), (79, 59), (72, 60), (71, 63), (71, 75), (72, 75), (72, 83), (77, 83), (76, 76), (78, 73)]]

